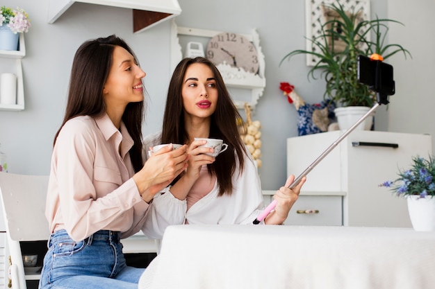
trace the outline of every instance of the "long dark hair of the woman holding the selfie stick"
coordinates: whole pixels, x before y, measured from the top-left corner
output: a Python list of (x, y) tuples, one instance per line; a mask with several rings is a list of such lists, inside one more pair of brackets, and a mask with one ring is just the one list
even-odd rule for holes
[[(233, 183), (231, 176), (236, 170), (237, 164), (240, 167), (240, 174), (243, 172), (246, 154), (245, 145), (240, 138), (237, 126), (237, 120), (242, 119), (236, 106), (231, 100), (231, 96), (224, 84), (224, 80), (215, 65), (206, 58), (184, 58), (177, 65), (172, 74), (169, 89), (167, 91), (167, 100), (165, 114), (163, 116), (162, 143), (187, 143), (189, 139), (188, 132), (184, 126), (184, 107), (181, 89), (183, 78), (186, 70), (191, 64), (205, 64), (213, 72), (216, 80), (218, 91), (217, 106), (211, 116), (210, 135), (213, 139), (223, 139), (228, 144), (228, 149), (213, 164), (208, 164), (208, 172), (216, 175), (219, 184), (219, 195), (227, 193), (231, 195)], [(190, 136), (195, 137), (195, 136)], [(236, 157), (234, 157), (234, 154)]]

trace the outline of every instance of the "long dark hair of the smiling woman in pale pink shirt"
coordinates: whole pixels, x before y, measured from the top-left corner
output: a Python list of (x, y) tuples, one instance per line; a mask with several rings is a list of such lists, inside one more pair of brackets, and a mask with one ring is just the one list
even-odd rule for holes
[[(88, 40), (77, 49), (72, 62), (65, 116), (54, 137), (54, 144), (60, 130), (69, 119), (84, 115), (98, 117), (106, 112), (103, 88), (112, 66), (115, 46), (121, 46), (129, 51), (138, 64), (136, 55), (131, 48), (124, 40), (115, 35)], [(130, 149), (130, 157), (136, 172), (143, 166), (142, 121), (144, 110), (145, 103), (143, 101), (129, 103), (122, 115), (122, 121), (134, 141), (133, 147)]]

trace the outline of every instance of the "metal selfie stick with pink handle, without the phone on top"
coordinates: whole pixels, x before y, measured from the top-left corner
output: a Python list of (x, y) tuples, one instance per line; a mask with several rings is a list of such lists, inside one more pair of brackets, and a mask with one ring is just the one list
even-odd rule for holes
[[(293, 189), (297, 184), (299, 184), (299, 182), (302, 180), (303, 177), (305, 177), (306, 175), (308, 175), (309, 172), (311, 172), (311, 170), (318, 164), (320, 163), (320, 161), (325, 158), (329, 152), (331, 152), (331, 150), (333, 150), (338, 143), (340, 143), (340, 141), (343, 141), (343, 139), (345, 137), (347, 137), (348, 134), (350, 134), (350, 132), (352, 132), (352, 130), (354, 130), (360, 123), (362, 123), (367, 116), (369, 116), (372, 112), (375, 112), (375, 110), (377, 109), (377, 107), (379, 107), (379, 103), (388, 103), (388, 100), (385, 100), (386, 96), (385, 95), (381, 95), (379, 94), (379, 92), (377, 93), (377, 98), (378, 98), (378, 102), (375, 103), (375, 105), (372, 106), (372, 108), (370, 108), (370, 110), (364, 114), (361, 119), (359, 119), (358, 121), (356, 121), (356, 123), (354, 123), (354, 125), (352, 125), (348, 130), (346, 130), (336, 141), (334, 141), (334, 143), (331, 144), (331, 146), (329, 146), (329, 148), (327, 148), (325, 150), (325, 152), (322, 152), (322, 155), (320, 155), (320, 157), (318, 157), (317, 159), (315, 159), (315, 161), (313, 161), (313, 163), (311, 165), (309, 165), (308, 168), (306, 168), (300, 175), (299, 177), (297, 177), (292, 184), (290, 184), (290, 186), (288, 186), (289, 189)], [(264, 220), (264, 218), (266, 218), (268, 216), (268, 214), (275, 209), (275, 207), (277, 207), (277, 200), (273, 200), (268, 207), (266, 207), (259, 215), (258, 217), (254, 220), (254, 222), (252, 222), (252, 224), (257, 225), (259, 224), (262, 220)]]

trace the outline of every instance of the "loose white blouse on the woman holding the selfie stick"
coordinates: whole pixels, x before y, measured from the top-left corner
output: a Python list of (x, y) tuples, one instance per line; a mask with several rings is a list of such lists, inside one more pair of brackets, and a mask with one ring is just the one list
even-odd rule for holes
[[(161, 143), (161, 133), (150, 134), (144, 140), (144, 158), (147, 159), (149, 146)], [(212, 191), (197, 201), (188, 211), (186, 200), (178, 200), (170, 192), (170, 186), (157, 193), (147, 211), (143, 231), (149, 238), (161, 238), (167, 226), (189, 224), (252, 224), (263, 209), (261, 182), (256, 165), (249, 152), (244, 156), (243, 174), (236, 167), (231, 177), (233, 193), (217, 196), (217, 180)]]

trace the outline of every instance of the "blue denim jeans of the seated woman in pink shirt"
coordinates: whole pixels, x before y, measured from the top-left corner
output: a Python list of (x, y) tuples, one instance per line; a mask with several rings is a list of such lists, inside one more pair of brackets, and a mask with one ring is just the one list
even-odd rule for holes
[(48, 241), (39, 288), (137, 289), (144, 270), (126, 265), (120, 232), (101, 230), (75, 242), (59, 230)]

